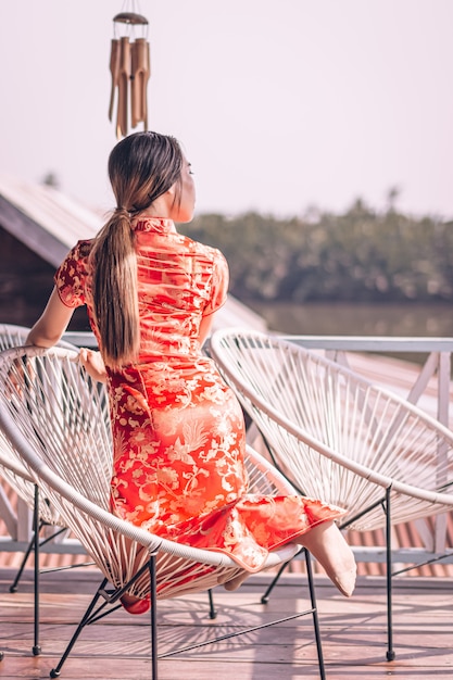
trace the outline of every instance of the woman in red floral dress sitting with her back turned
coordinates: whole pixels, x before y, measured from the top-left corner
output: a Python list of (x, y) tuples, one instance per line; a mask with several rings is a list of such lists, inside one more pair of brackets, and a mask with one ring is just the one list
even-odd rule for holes
[[(351, 595), (355, 562), (334, 522), (343, 511), (247, 494), (242, 412), (201, 352), (226, 299), (227, 264), (175, 228), (193, 215), (190, 163), (173, 137), (137, 133), (113, 149), (109, 175), (116, 209), (58, 269), (28, 343), (54, 344), (74, 308), (87, 305), (100, 353), (84, 349), (80, 361), (109, 391), (112, 512), (164, 538), (223, 551), (248, 572), (268, 551), (303, 544)], [(127, 595), (123, 604), (133, 614), (149, 607)]]

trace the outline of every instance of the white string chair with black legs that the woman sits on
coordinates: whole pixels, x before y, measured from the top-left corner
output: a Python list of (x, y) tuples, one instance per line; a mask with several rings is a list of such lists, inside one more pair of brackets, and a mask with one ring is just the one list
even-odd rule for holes
[[(111, 465), (105, 462), (112, 444), (110, 428), (101, 415), (103, 386), (93, 383), (76, 360), (76, 352), (60, 348), (18, 348), (0, 353), (0, 426), (40, 493), (58, 509), (104, 576), (51, 677), (60, 675), (85, 626), (118, 608), (119, 597), (127, 592), (140, 599), (151, 596), (151, 673), (156, 680), (158, 601), (209, 591), (243, 570), (225, 554), (162, 539), (111, 514)], [(252, 493), (294, 493), (285, 477), (250, 449), (247, 467)], [(289, 544), (270, 553), (265, 568), (289, 562), (299, 551), (299, 545)], [(311, 608), (288, 618), (312, 614), (324, 680), (307, 553), (306, 565)], [(185, 646), (184, 651), (209, 642)]]

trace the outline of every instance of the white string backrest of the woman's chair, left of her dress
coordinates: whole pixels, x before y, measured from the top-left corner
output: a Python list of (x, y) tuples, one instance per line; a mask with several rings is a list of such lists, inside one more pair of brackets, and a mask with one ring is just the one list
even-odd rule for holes
[(102, 383), (86, 374), (75, 350), (15, 348), (5, 354), (12, 361), (3, 394), (17, 429), (51, 470), (109, 508), (112, 443)]

